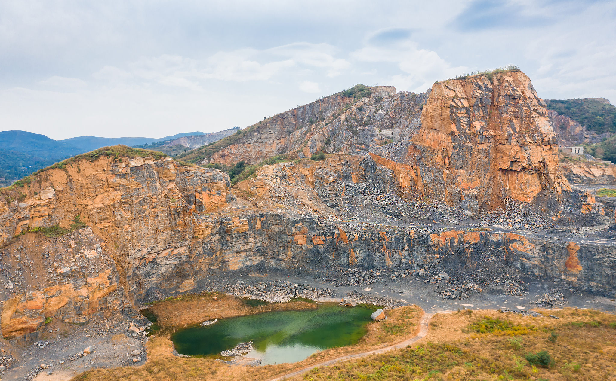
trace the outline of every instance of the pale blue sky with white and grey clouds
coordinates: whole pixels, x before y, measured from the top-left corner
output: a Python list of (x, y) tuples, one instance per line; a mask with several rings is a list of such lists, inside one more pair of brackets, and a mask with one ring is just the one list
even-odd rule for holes
[(242, 128), (362, 83), (424, 92), (519, 65), (540, 97), (616, 102), (616, 0), (0, 2), (0, 130)]

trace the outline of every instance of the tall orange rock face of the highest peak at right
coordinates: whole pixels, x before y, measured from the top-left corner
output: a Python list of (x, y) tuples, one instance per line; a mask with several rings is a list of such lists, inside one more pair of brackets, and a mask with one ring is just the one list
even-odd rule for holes
[(434, 84), (404, 150), (373, 149), (402, 188), (476, 213), (570, 190), (545, 102), (521, 71)]

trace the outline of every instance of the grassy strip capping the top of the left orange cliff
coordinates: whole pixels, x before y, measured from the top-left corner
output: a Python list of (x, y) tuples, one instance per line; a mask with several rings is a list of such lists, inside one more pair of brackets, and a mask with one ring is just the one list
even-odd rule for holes
[(47, 170), (56, 169), (56, 168), (65, 169), (65, 167), (71, 162), (75, 162), (78, 160), (95, 160), (103, 156), (120, 159), (120, 161), (122, 160), (122, 158), (132, 159), (132, 158), (136, 158), (137, 156), (140, 156), (142, 158), (147, 158), (148, 156), (152, 156), (155, 160), (159, 160), (162, 158), (166, 158), (167, 154), (159, 152), (159, 151), (142, 150), (141, 148), (132, 148), (132, 147), (121, 145), (121, 144), (114, 145), (114, 146), (105, 146), (105, 147), (99, 148), (98, 150), (78, 154), (78, 155), (73, 156), (72, 158), (68, 158), (63, 161), (57, 162), (52, 166), (39, 169), (33, 174), (31, 174), (30, 176), (26, 176), (22, 178), (21, 180), (14, 182), (12, 185), (7, 186), (6, 188), (2, 188), (2, 189), (12, 190), (12, 189), (17, 188), (18, 186), (23, 188), (23, 186), (25, 186), (26, 184), (30, 184), (32, 180), (34, 180), (34, 177), (36, 177), (36, 175), (46, 172)]

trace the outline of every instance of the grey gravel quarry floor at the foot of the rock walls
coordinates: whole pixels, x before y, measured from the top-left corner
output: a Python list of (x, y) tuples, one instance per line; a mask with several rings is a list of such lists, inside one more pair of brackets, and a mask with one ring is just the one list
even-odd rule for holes
[[(510, 269), (510, 275), (514, 276), (514, 269)], [(316, 275), (316, 276), (315, 276)], [(332, 298), (342, 299), (347, 297), (349, 292), (360, 292), (368, 297), (382, 297), (386, 299), (399, 300), (402, 305), (415, 304), (423, 308), (426, 313), (436, 313), (436, 311), (458, 310), (462, 308), (476, 310), (497, 310), (499, 308), (508, 308), (511, 310), (530, 310), (537, 308), (537, 305), (531, 303), (537, 300), (538, 297), (553, 287), (561, 287), (559, 292), (564, 294), (565, 300), (569, 303), (561, 307), (578, 307), (578, 308), (593, 308), (596, 310), (615, 313), (616, 301), (606, 297), (588, 294), (580, 291), (569, 291), (566, 284), (562, 282), (555, 283), (554, 281), (537, 281), (537, 279), (526, 279), (530, 284), (529, 295), (522, 297), (514, 297), (511, 295), (491, 295), (488, 292), (482, 292), (479, 295), (470, 295), (464, 300), (449, 300), (440, 297), (440, 291), (447, 287), (447, 284), (424, 284), (421, 281), (385, 281), (385, 283), (371, 284), (370, 287), (352, 287), (339, 286), (335, 287), (327, 281), (320, 280), (320, 274), (312, 273), (289, 273), (286, 271), (267, 271), (262, 273), (259, 271), (245, 271), (243, 273), (222, 273), (218, 278), (214, 278), (211, 284), (207, 284), (203, 290), (194, 289), (191, 292), (196, 293), (206, 291), (207, 288), (217, 287), (222, 289), (226, 284), (235, 284), (237, 281), (243, 281), (246, 284), (256, 284), (258, 282), (269, 282), (274, 280), (290, 281), (292, 283), (309, 284), (312, 287), (325, 287), (332, 289)], [(545, 308), (549, 310), (549, 308)], [(76, 374), (86, 371), (87, 367), (116, 367), (116, 366), (139, 366), (146, 360), (145, 355), (140, 356), (139, 363), (132, 363), (134, 356), (130, 352), (134, 349), (143, 349), (142, 342), (132, 337), (117, 340), (113, 339), (116, 335), (126, 334), (126, 326), (129, 320), (123, 316), (115, 316), (103, 321), (93, 319), (91, 323), (86, 324), (79, 329), (73, 329), (67, 337), (60, 340), (59, 337), (46, 339), (51, 343), (43, 349), (34, 347), (33, 343), (29, 343), (26, 347), (23, 345), (14, 345), (12, 352), (18, 360), (17, 365), (12, 367), (7, 372), (3, 372), (2, 379), (4, 380), (37, 380), (37, 381), (62, 381), (70, 380)], [(100, 326), (105, 324), (110, 326), (107, 332), (96, 337), (87, 337), (84, 331), (88, 330), (88, 326)], [(116, 328), (111, 328), (115, 326)], [(73, 327), (70, 327), (73, 328)], [(98, 329), (98, 328), (96, 328)], [(95, 329), (94, 329), (95, 330)], [(89, 345), (94, 346), (95, 352), (91, 355), (75, 359), (74, 361), (65, 361), (65, 364), (60, 365), (59, 361), (67, 356), (75, 355), (83, 348)], [(41, 363), (54, 363), (54, 367), (45, 369), (39, 372), (38, 375), (31, 375), (31, 371), (36, 369)], [(52, 371), (52, 375), (47, 375), (48, 371)]]

